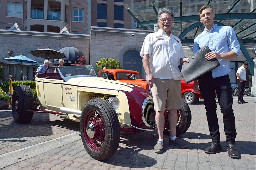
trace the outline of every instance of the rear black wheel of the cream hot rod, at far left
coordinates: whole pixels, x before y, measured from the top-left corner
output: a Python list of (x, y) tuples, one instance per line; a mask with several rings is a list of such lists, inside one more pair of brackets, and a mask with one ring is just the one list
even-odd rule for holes
[(17, 86), (11, 98), (11, 111), (18, 124), (29, 123), (34, 113), (26, 112), (35, 109), (34, 95), (29, 86)]

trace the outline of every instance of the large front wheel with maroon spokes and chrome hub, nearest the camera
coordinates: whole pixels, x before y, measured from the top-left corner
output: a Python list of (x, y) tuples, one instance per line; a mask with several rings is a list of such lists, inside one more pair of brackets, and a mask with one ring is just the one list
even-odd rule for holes
[(92, 158), (106, 160), (113, 156), (120, 141), (119, 120), (114, 108), (103, 99), (88, 101), (82, 110), (80, 133), (85, 150)]

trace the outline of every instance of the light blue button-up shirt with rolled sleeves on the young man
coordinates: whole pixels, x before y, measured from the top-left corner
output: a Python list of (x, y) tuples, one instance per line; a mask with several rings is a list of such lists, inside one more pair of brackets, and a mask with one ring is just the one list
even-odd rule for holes
[[(204, 46), (208, 46), (211, 51), (219, 54), (228, 53), (229, 49), (241, 55), (241, 49), (235, 31), (230, 26), (218, 26), (214, 24), (211, 31), (203, 31), (200, 35), (195, 37), (193, 53), (196, 53)], [(230, 63), (228, 59), (218, 59), (220, 66), (212, 70), (213, 78), (221, 77), (230, 73)]]

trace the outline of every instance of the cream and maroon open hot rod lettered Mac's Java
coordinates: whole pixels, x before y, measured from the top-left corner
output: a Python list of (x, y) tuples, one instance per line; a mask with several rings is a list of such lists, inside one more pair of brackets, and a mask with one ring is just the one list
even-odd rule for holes
[[(47, 73), (54, 69), (56, 73)], [(34, 102), (29, 86), (15, 88), (11, 107), (17, 123), (30, 122), (36, 112), (80, 122), (83, 145), (97, 160), (113, 156), (121, 136), (155, 129), (153, 98), (144, 88), (108, 78), (102, 74), (104, 70), (98, 77), (98, 70), (91, 65), (47, 70), (35, 75), (39, 102)], [(184, 104), (178, 115), (191, 116)]]

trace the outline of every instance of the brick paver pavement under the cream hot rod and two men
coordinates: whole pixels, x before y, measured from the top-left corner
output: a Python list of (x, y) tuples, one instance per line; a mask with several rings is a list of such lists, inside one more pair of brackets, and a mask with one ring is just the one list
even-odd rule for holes
[(117, 152), (109, 160), (98, 161), (85, 151), (79, 136), (79, 123), (53, 114), (35, 113), (28, 124), (17, 124), (11, 109), (0, 110), (0, 169), (3, 170), (250, 170), (255, 169), (255, 97), (245, 96), (248, 104), (237, 104), (236, 147), (240, 159), (227, 155), (223, 118), (217, 110), (222, 151), (208, 155), (204, 149), (210, 145), (208, 125), (203, 103), (189, 105), (192, 122), (183, 138), (187, 148), (168, 144), (164, 137), (164, 152), (156, 154), (153, 147), (156, 132), (142, 132), (120, 138)]

